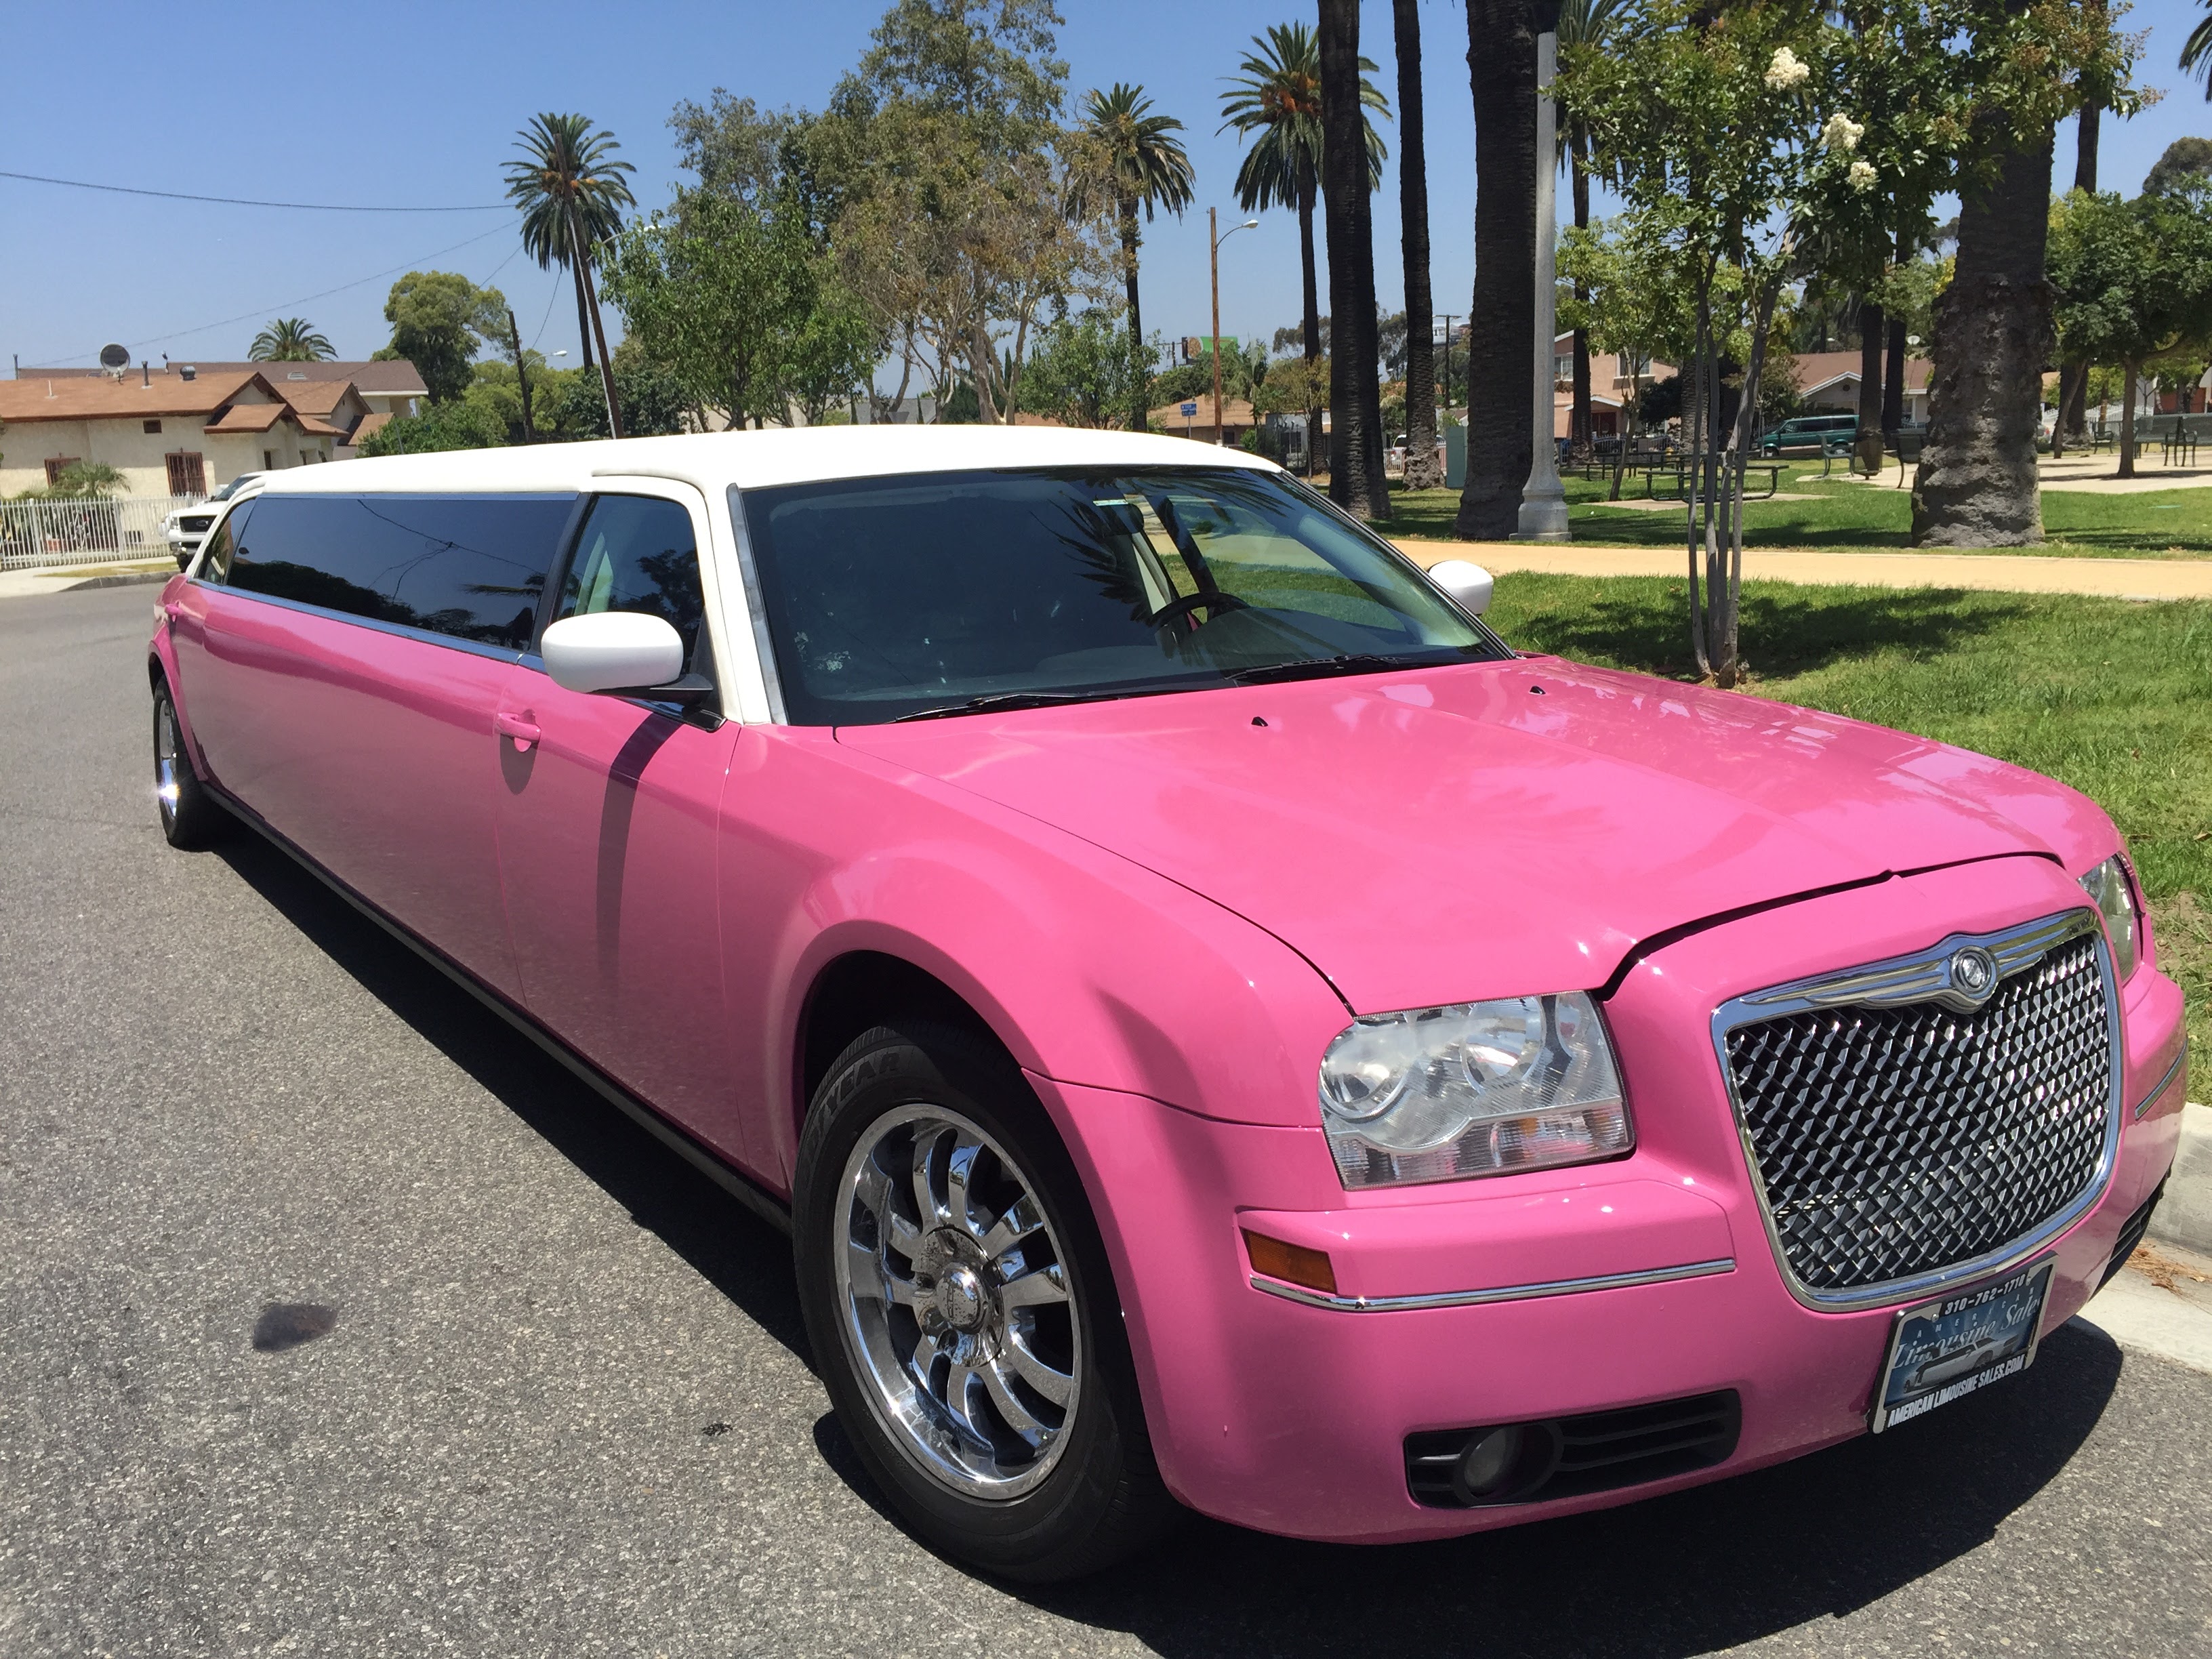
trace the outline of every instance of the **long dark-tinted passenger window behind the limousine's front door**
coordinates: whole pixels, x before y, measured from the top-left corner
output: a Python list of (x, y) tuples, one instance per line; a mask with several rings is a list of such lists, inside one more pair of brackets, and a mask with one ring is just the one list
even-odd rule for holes
[(524, 650), (571, 495), (263, 495), (230, 586)]

